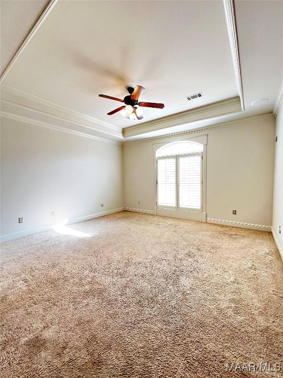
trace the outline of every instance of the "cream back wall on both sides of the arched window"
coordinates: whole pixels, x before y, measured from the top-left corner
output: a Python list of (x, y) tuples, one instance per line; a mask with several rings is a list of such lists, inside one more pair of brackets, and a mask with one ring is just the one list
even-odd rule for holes
[[(246, 120), (200, 134), (206, 133), (207, 218), (271, 226), (275, 119)], [(152, 144), (123, 146), (126, 207), (154, 210)]]

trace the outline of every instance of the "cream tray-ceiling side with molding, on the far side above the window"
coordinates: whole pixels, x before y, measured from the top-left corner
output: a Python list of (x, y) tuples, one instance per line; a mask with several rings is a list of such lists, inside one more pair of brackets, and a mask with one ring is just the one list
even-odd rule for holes
[(227, 114), (241, 112), (239, 97), (232, 97), (223, 101), (214, 102), (209, 105), (200, 106), (185, 112), (176, 113), (171, 116), (145, 122), (139, 126), (130, 126), (123, 129), (124, 138), (140, 135), (158, 129), (168, 128), (181, 124), (201, 121), (209, 118), (221, 117)]

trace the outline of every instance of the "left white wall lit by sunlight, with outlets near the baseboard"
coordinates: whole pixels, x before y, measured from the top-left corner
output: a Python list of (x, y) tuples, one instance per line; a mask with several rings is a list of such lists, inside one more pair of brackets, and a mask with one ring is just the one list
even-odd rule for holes
[(122, 168), (119, 145), (1, 118), (1, 235), (123, 207)]

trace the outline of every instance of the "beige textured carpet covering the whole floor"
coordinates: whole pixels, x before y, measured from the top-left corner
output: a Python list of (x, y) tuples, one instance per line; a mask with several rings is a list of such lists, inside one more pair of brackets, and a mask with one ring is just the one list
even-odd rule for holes
[(130, 212), (70, 229), (1, 245), (0, 377), (282, 377), (271, 233)]

